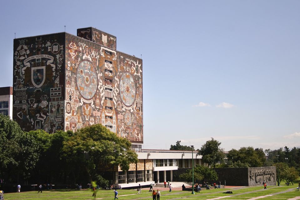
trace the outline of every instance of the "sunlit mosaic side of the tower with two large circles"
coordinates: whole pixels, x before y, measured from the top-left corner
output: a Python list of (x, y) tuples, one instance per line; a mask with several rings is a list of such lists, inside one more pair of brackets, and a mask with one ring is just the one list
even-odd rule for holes
[(142, 60), (66, 35), (65, 127), (102, 124), (143, 143)]

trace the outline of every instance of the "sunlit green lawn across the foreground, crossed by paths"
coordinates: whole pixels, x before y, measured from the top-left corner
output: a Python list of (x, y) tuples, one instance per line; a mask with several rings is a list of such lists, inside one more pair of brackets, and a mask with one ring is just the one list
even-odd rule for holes
[[(293, 189), (295, 188), (295, 189)], [(291, 190), (289, 190), (291, 189)], [(233, 194), (223, 194), (225, 191), (232, 191)], [(277, 192), (284, 192), (275, 194)], [(51, 190), (43, 191), (43, 193), (37, 193), (37, 191), (20, 192), (20, 193), (5, 193), (5, 200), (58, 200), (58, 199), (114, 199), (113, 190), (98, 190), (97, 197), (92, 197), (93, 192), (91, 190)], [(137, 194), (136, 190), (118, 190), (119, 199), (130, 200), (151, 200), (151, 192), (148, 190), (142, 190), (142, 194)], [(265, 196), (272, 195), (272, 196)], [(225, 197), (227, 196), (227, 197)], [(229, 197), (228, 197), (229, 196)], [(262, 186), (255, 187), (241, 187), (234, 189), (211, 189), (201, 190), (200, 193), (192, 195), (190, 191), (176, 191), (168, 192), (168, 190), (161, 191), (161, 199), (214, 199), (221, 197), (222, 200), (247, 200), (252, 197), (261, 197), (260, 200), (287, 200), (293, 197), (299, 197), (300, 191), (296, 191), (295, 186), (268, 186), (267, 190), (264, 190)], [(224, 198), (222, 198), (224, 197)]]

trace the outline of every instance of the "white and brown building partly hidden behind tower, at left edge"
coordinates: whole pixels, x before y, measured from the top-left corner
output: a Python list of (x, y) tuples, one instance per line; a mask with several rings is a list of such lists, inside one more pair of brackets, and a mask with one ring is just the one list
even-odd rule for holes
[(0, 88), (0, 114), (12, 119), (12, 87)]

